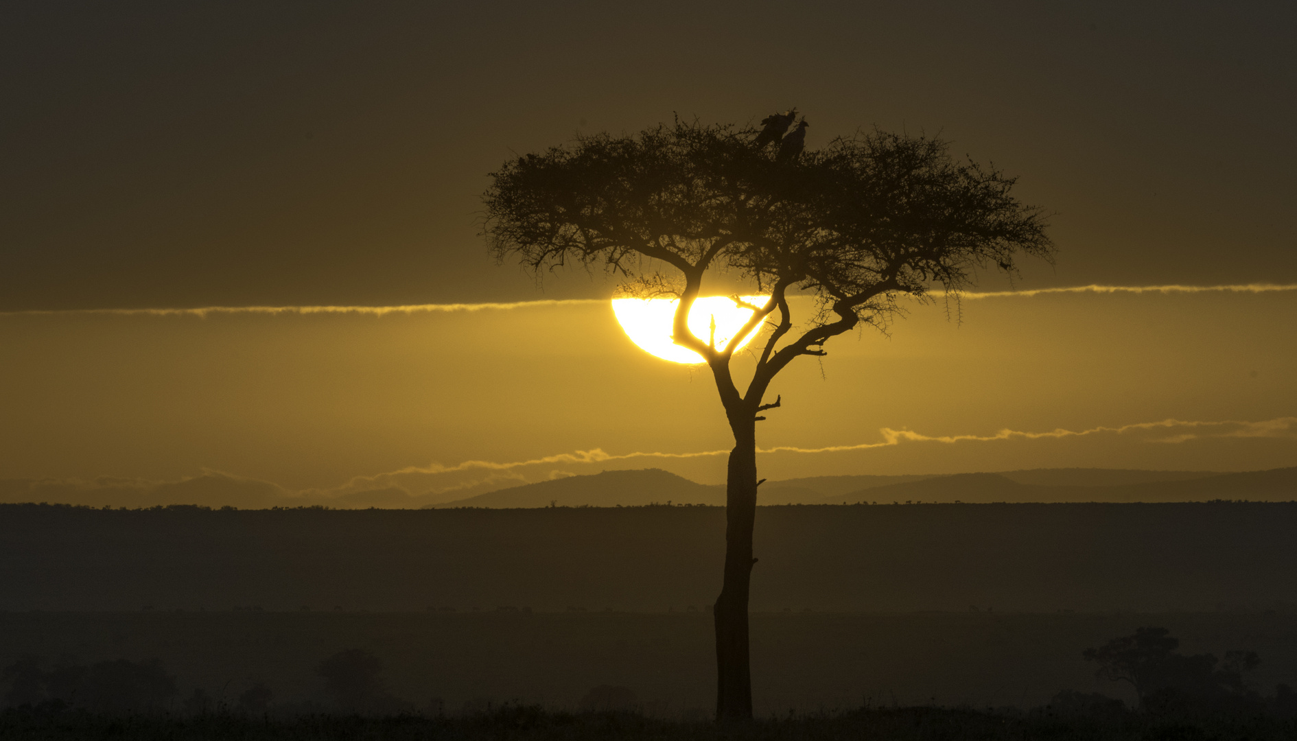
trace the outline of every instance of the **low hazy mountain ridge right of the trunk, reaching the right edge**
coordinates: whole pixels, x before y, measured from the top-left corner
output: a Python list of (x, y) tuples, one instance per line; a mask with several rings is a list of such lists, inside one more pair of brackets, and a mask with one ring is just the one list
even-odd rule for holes
[[(1188, 471), (1169, 471), (1167, 474), (1172, 475), (1170, 480), (1145, 480), (1113, 485), (1026, 484), (1010, 478), (1014, 474), (1021, 472), (933, 476), (920, 481), (863, 488), (808, 504), (1297, 501), (1297, 467), (1241, 474), (1206, 474), (1193, 478), (1185, 478)], [(1035, 480), (1051, 479), (1048, 470), (1031, 471), (1030, 474), (1034, 475)], [(1067, 479), (1061, 472), (1052, 478), (1053, 480), (1077, 480), (1075, 478)], [(1100, 475), (1088, 478), (1102, 480)], [(1112, 476), (1110, 480), (1119, 480), (1119, 476)]]

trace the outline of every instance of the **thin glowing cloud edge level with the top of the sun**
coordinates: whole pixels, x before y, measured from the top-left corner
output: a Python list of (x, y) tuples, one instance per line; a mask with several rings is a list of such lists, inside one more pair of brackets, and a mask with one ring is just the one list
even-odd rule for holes
[[(1236, 283), (1228, 285), (1067, 285), (1061, 288), (1032, 288), (1027, 291), (961, 292), (960, 298), (1030, 298), (1051, 293), (1275, 293), (1297, 291), (1297, 283)], [(603, 298), (560, 298), (541, 301), (484, 302), (484, 304), (409, 304), (403, 306), (198, 306), (193, 309), (34, 309), (0, 311), (0, 317), (44, 315), (109, 315), (109, 317), (198, 317), (211, 314), (422, 314), (457, 311), (508, 311), (514, 309), (547, 309), (554, 306), (585, 306), (607, 304)]]

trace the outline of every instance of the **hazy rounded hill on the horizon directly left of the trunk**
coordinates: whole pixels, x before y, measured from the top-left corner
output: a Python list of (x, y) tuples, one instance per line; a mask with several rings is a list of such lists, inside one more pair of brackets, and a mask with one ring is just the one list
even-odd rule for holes
[(633, 507), (650, 504), (724, 505), (725, 487), (698, 484), (661, 468), (603, 471), (497, 489), (424, 509), (450, 507)]

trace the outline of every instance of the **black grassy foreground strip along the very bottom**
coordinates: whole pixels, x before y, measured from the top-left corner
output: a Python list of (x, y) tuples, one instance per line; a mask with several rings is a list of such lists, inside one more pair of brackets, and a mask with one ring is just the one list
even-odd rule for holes
[(834, 715), (790, 715), (752, 723), (671, 722), (629, 712), (547, 712), (505, 707), (462, 716), (419, 715), (362, 718), (315, 715), (287, 720), (239, 715), (104, 716), (87, 712), (6, 710), (0, 714), (5, 740), (1130, 740), (1130, 741), (1270, 741), (1297, 738), (1297, 722), (1263, 714), (1206, 718), (1109, 716), (1060, 718), (971, 709), (885, 707)]

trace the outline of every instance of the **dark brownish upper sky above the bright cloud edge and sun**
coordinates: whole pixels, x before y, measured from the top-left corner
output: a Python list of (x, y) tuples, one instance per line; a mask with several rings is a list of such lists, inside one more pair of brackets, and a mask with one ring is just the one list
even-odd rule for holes
[(1029, 287), (1297, 280), (1297, 5), (895, 5), (6, 3), (0, 310), (536, 298), (506, 157), (789, 105), (1021, 175)]

